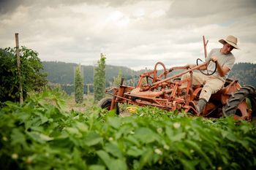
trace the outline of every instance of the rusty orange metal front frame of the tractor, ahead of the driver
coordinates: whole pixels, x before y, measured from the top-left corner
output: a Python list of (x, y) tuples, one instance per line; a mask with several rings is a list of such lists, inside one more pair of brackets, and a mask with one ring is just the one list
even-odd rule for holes
[[(131, 86), (120, 85), (119, 88), (112, 88), (110, 90), (106, 90), (105, 93), (113, 96), (110, 109), (115, 109), (116, 103), (126, 103), (126, 104), (136, 104), (139, 106), (151, 105), (154, 107), (159, 107), (162, 109), (167, 109), (174, 111), (176, 109), (184, 109), (185, 112), (195, 112), (195, 109), (189, 106), (189, 101), (192, 98), (195, 98), (195, 94), (193, 96), (189, 94), (192, 77), (189, 77), (185, 80), (176, 80), (176, 78), (181, 77), (184, 74), (193, 74), (195, 69), (199, 69), (200, 67), (206, 66), (207, 63), (200, 64), (191, 69), (187, 69), (186, 66), (173, 67), (169, 70), (165, 69), (165, 72), (157, 75), (157, 65), (160, 64), (165, 68), (165, 65), (162, 62), (158, 62), (155, 66), (154, 71), (146, 72), (140, 74), (140, 79), (138, 81), (138, 85), (136, 88)], [(167, 77), (165, 79), (160, 80), (161, 77), (166, 77), (167, 74), (173, 72), (178, 69), (187, 69), (180, 74), (173, 75), (172, 77)], [(143, 84), (143, 79), (151, 79), (152, 84)], [(187, 87), (185, 91), (187, 93), (181, 95), (181, 84), (187, 83)]]

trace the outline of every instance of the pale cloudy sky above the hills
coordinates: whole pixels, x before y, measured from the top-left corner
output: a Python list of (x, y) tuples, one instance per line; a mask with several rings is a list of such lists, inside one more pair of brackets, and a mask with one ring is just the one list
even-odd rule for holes
[(203, 59), (203, 35), (209, 52), (231, 34), (236, 63), (256, 63), (255, 30), (255, 0), (0, 0), (0, 47), (19, 33), (41, 61), (170, 68)]

